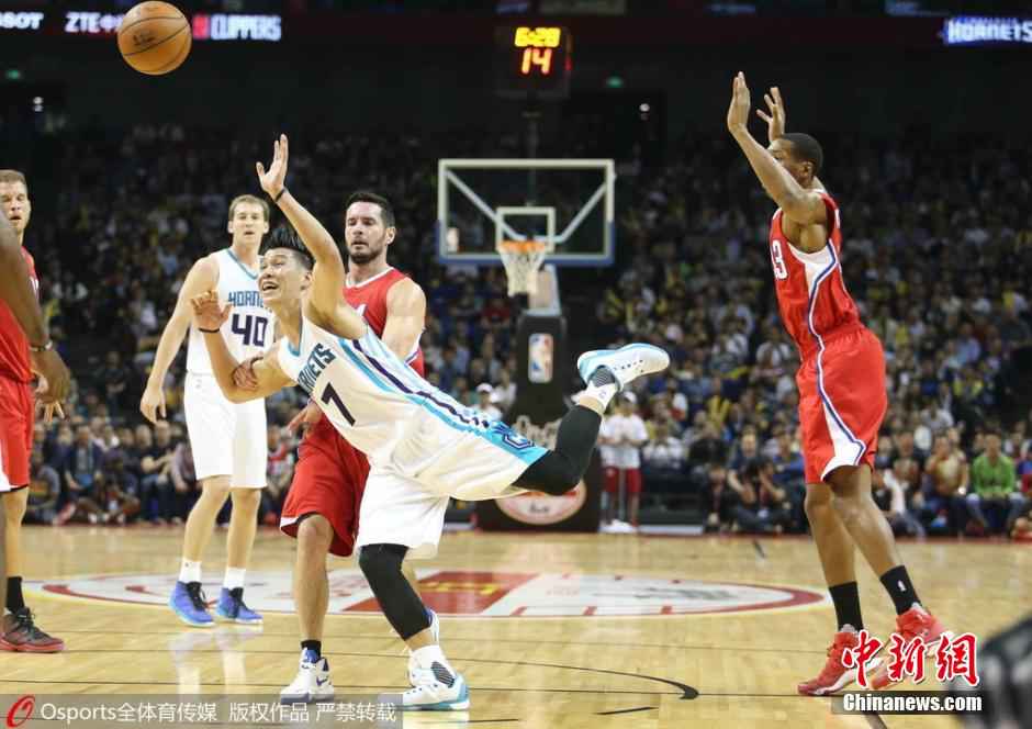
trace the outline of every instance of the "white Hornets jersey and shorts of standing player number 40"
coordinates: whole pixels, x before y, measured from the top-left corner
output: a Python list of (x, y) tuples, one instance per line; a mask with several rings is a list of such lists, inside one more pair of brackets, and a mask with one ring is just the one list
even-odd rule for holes
[[(222, 334), (229, 352), (244, 361), (272, 344), (276, 317), (261, 303), (258, 274), (228, 248), (213, 254), (218, 265), (218, 302), (233, 304)], [(266, 485), (269, 457), (263, 400), (231, 403), (212, 373), (203, 335), (190, 325), (183, 406), (198, 479), (228, 475), (231, 487)]]

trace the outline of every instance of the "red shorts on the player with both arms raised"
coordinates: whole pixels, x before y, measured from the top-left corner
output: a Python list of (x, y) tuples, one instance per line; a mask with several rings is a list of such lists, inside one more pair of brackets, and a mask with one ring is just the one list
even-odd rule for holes
[(796, 373), (806, 482), (840, 466), (874, 467), (878, 429), (888, 408), (885, 354), (867, 328), (825, 337)]

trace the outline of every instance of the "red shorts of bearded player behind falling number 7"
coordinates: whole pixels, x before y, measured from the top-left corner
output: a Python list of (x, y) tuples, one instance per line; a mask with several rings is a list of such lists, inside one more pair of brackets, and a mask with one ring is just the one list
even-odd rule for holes
[(325, 417), (312, 426), (299, 451), (298, 467), (280, 516), (280, 530), (296, 538), (301, 517), (318, 514), (334, 530), (329, 551), (337, 557), (348, 557), (358, 534), (369, 462)]

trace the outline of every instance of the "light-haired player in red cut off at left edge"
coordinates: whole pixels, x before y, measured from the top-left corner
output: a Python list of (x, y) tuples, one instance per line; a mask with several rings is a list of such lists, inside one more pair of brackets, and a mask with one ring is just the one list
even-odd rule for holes
[[(25, 177), (0, 170), (0, 205), (4, 243), (0, 261), (3, 302), (0, 303), (0, 503), (3, 521), (3, 570), (8, 615), (0, 620), (0, 649), (25, 653), (56, 653), (65, 642), (40, 630), (22, 596), (22, 518), (29, 503), (29, 460), (32, 455), (33, 372), (42, 375), (37, 392), (47, 403), (49, 419), (68, 392), (68, 370), (53, 349), (36, 302), (40, 282), (32, 256), (22, 245), (32, 214)], [(12, 229), (13, 228), (13, 229)], [(13, 235), (12, 235), (13, 234)], [(3, 575), (0, 574), (0, 577)]]

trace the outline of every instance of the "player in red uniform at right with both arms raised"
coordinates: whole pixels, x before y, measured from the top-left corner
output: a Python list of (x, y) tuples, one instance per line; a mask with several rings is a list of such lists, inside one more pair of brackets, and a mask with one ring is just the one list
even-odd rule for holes
[[(842, 653), (857, 644), (863, 628), (854, 567), (854, 543), (896, 606), (906, 640), (933, 642), (944, 631), (918, 599), (900, 563), (888, 523), (871, 497), (878, 428), (888, 406), (882, 344), (860, 321), (845, 289), (840, 256), (839, 206), (818, 179), (823, 153), (814, 137), (785, 134), (781, 93), (766, 97), (771, 145), (747, 128), (749, 87), (732, 82), (728, 130), (741, 146), (767, 194), (778, 204), (771, 222), (771, 262), (782, 321), (799, 348), (799, 422), (806, 467), (806, 514), (838, 618), (838, 631), (820, 674), (800, 683), (800, 694), (841, 689), (856, 677)], [(883, 662), (875, 688), (888, 685)]]

